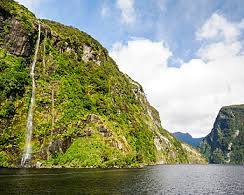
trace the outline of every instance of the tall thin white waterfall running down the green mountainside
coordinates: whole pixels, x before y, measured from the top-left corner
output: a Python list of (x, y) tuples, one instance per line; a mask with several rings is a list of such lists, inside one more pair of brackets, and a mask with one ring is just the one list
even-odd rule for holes
[(31, 159), (31, 152), (32, 152), (31, 137), (32, 137), (32, 131), (33, 131), (33, 112), (34, 112), (35, 95), (36, 95), (35, 65), (36, 65), (37, 54), (38, 54), (38, 49), (39, 49), (39, 45), (40, 45), (40, 37), (41, 37), (41, 25), (39, 24), (35, 55), (34, 55), (32, 65), (31, 65), (31, 72), (30, 72), (30, 76), (32, 79), (32, 94), (31, 94), (31, 102), (30, 102), (30, 108), (29, 108), (27, 124), (26, 124), (27, 130), (26, 130), (26, 137), (25, 137), (25, 149), (24, 149), (24, 154), (21, 159), (22, 167), (25, 166), (26, 161)]

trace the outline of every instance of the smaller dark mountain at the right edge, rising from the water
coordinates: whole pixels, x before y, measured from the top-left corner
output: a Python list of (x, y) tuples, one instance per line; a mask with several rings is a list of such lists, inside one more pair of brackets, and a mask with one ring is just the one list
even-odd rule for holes
[(220, 109), (201, 151), (210, 163), (244, 164), (244, 105)]

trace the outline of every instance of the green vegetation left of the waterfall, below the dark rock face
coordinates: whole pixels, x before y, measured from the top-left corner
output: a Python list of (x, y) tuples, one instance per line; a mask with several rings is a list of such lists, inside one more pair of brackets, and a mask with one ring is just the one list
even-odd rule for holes
[(18, 125), (13, 127), (13, 122), (20, 109), (26, 111), (24, 99), (29, 96), (26, 94), (24, 97), (24, 93), (30, 83), (28, 72), (24, 58), (0, 49), (0, 166), (9, 165), (21, 152), (19, 144), (22, 132), (18, 131)]

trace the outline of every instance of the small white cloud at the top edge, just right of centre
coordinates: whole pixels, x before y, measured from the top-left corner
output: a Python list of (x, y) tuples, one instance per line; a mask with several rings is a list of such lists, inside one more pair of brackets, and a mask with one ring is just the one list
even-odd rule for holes
[(133, 24), (136, 20), (134, 0), (117, 0), (117, 6), (121, 10), (122, 22)]

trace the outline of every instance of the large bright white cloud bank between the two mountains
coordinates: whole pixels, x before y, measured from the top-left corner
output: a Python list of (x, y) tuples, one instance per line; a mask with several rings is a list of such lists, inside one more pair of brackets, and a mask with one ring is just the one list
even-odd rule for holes
[(214, 14), (198, 31), (198, 38), (208, 40), (196, 52), (199, 59), (182, 63), (180, 68), (167, 66), (172, 53), (163, 42), (148, 39), (115, 44), (110, 55), (123, 72), (142, 84), (163, 127), (203, 136), (222, 106), (244, 103), (240, 26)]

